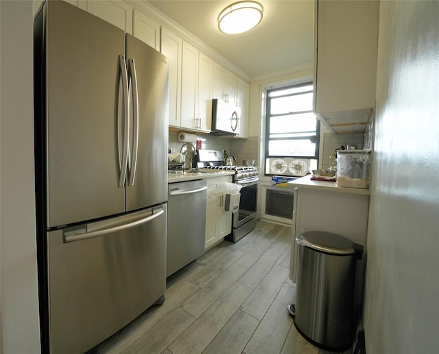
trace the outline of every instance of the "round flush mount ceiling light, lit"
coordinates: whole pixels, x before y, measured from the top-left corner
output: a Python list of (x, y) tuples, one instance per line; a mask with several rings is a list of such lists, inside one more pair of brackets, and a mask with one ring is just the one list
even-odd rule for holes
[(256, 1), (239, 1), (222, 10), (218, 28), (226, 34), (238, 34), (256, 26), (262, 19), (263, 8)]

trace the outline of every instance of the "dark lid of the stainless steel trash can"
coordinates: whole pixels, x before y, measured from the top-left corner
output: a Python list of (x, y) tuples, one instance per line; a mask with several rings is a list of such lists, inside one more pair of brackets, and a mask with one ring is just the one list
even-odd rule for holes
[(300, 233), (296, 242), (317, 251), (337, 255), (350, 255), (355, 253), (353, 242), (337, 233), (326, 231), (307, 231)]

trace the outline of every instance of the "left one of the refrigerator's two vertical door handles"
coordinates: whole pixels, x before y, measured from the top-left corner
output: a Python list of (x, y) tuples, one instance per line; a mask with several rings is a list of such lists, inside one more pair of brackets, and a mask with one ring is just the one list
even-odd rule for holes
[[(119, 187), (123, 187), (125, 184), (125, 178), (126, 178), (126, 170), (128, 165), (128, 144), (129, 144), (129, 138), (130, 138), (130, 100), (129, 100), (129, 94), (128, 94), (128, 73), (126, 70), (126, 64), (125, 64), (125, 55), (119, 55), (119, 70), (120, 70), (120, 76), (119, 80), (121, 80), (122, 84), (122, 93), (123, 93), (123, 141), (122, 141), (122, 156), (120, 155), (120, 131), (117, 132), (117, 142), (118, 142), (118, 151), (119, 151), (119, 181), (117, 185)], [(119, 81), (120, 82), (120, 81)], [(118, 86), (119, 87), (119, 86)], [(119, 97), (119, 94), (118, 94)], [(120, 129), (120, 125), (118, 124)]]

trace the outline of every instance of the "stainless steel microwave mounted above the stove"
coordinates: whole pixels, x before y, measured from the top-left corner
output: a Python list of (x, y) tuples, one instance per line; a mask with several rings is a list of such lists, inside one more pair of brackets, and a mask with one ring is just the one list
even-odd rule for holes
[(212, 133), (239, 134), (239, 116), (241, 110), (235, 105), (213, 99), (212, 101)]

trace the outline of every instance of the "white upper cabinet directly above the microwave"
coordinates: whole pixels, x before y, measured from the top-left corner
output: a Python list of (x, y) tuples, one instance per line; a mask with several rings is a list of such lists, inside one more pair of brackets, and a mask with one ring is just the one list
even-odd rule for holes
[(217, 62), (213, 64), (213, 98), (237, 103), (237, 76)]

